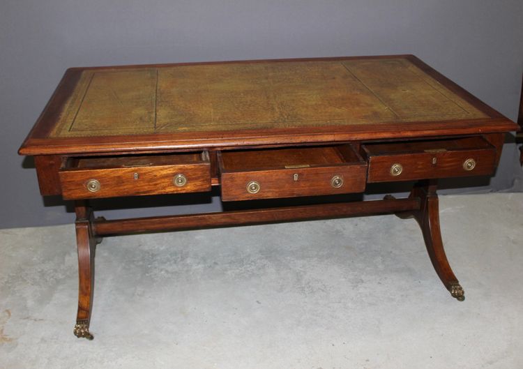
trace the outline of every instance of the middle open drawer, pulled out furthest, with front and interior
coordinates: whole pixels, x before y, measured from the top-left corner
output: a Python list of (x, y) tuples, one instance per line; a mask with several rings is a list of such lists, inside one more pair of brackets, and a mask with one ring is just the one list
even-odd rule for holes
[(360, 193), (367, 165), (350, 144), (219, 151), (223, 201)]

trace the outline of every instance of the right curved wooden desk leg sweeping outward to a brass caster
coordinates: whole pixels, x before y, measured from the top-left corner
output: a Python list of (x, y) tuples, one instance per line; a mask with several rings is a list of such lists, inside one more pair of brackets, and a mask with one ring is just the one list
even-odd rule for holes
[(437, 181), (423, 181), (416, 185), (410, 197), (420, 199), (420, 209), (406, 213), (397, 213), (400, 218), (415, 218), (423, 232), (425, 246), (430, 256), (434, 270), (443, 282), (444, 286), (457, 301), (464, 301), (464, 290), (458, 282), (454, 272), (448, 264), (448, 259), (441, 240), (441, 229), (439, 227), (439, 202), (436, 193)]

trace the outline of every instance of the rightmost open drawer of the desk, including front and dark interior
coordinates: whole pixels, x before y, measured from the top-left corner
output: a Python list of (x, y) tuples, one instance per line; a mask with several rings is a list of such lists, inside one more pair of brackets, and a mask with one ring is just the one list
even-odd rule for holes
[(361, 149), (369, 182), (489, 175), (496, 163), (496, 148), (480, 136), (372, 143)]

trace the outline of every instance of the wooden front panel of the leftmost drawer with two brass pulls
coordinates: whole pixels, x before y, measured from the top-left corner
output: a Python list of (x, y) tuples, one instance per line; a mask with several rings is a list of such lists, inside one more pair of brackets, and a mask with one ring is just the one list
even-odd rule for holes
[(64, 199), (161, 195), (211, 190), (209, 163), (63, 168), (59, 172)]

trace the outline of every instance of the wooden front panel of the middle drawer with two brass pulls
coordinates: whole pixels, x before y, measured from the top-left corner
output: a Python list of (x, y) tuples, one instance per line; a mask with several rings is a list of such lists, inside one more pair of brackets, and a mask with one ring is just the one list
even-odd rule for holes
[(365, 165), (222, 173), (222, 200), (361, 193)]

